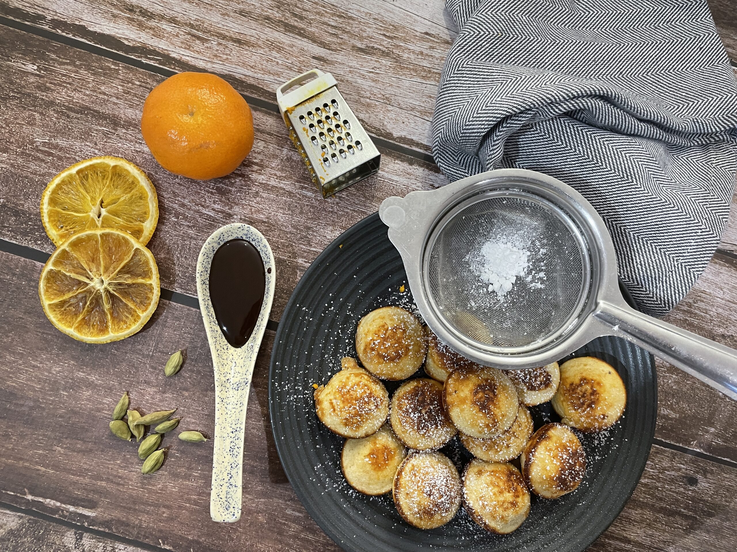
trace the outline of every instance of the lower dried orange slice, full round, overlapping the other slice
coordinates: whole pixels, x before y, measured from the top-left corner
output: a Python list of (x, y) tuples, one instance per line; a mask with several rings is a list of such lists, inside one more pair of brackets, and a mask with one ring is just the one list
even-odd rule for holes
[(160, 293), (156, 260), (127, 232), (86, 230), (65, 241), (38, 280), (43, 312), (59, 330), (88, 343), (132, 336)]

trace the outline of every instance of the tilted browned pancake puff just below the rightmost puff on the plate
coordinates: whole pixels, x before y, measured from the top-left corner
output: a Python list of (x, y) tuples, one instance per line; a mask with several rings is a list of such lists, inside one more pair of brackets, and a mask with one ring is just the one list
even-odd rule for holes
[(586, 453), (579, 438), (558, 423), (535, 431), (520, 463), (525, 483), (542, 498), (559, 498), (575, 491), (586, 473)]

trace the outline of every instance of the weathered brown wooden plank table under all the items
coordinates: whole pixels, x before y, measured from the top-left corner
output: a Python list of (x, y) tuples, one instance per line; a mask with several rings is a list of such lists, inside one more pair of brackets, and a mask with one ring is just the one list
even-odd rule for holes
[[(304, 269), (389, 195), (444, 183), (430, 119), (455, 29), (443, 1), (0, 1), (0, 549), (4, 551), (327, 551), (287, 482), (268, 417), (268, 331), (254, 373), (243, 517), (209, 518), (212, 447), (172, 447), (144, 478), (108, 431), (123, 390), (150, 411), (175, 405), (212, 434), (212, 364), (195, 298), (201, 244), (228, 222), (258, 227), (276, 254), (271, 317)], [(737, 1), (710, 0), (737, 67)], [(287, 138), (274, 90), (331, 71), (383, 153), (380, 173), (324, 200)], [(141, 138), (147, 93), (178, 71), (211, 71), (254, 110), (256, 144), (229, 177), (167, 173)], [(38, 216), (49, 179), (77, 160), (119, 155), (156, 184), (149, 247), (161, 271), (153, 322), (89, 345), (43, 316), (37, 286), (52, 252)], [(668, 315), (737, 347), (737, 211), (705, 274)], [(164, 381), (172, 351), (186, 369)], [(737, 403), (659, 362), (654, 447), (632, 499), (595, 551), (737, 550)]]

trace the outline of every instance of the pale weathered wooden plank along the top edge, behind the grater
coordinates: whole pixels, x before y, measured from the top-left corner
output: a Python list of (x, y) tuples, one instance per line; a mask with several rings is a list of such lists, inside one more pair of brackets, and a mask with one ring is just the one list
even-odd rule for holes
[[(709, 5), (737, 60), (737, 0)], [(319, 66), (370, 132), (421, 152), (430, 152), (441, 68), (457, 33), (442, 0), (3, 0), (0, 13), (174, 71), (226, 74), (268, 102), (282, 82)]]

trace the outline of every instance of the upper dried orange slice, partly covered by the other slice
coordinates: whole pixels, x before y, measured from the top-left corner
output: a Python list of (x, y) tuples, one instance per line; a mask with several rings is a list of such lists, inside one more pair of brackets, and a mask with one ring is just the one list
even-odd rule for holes
[(156, 189), (125, 159), (85, 159), (57, 174), (41, 196), (41, 221), (56, 247), (84, 230), (117, 228), (146, 245), (156, 230)]

